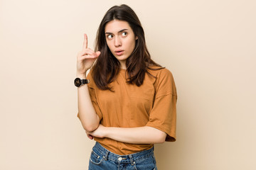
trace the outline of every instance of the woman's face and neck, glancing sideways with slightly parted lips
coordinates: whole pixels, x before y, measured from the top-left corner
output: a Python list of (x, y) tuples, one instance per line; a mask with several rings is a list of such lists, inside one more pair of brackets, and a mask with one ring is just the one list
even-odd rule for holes
[(137, 37), (127, 21), (113, 20), (105, 26), (107, 46), (121, 64), (121, 69), (126, 69), (126, 60), (132, 54)]

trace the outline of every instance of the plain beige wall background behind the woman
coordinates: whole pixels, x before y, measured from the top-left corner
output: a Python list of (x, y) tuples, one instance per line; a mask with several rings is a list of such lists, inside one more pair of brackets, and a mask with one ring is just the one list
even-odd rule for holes
[(159, 169), (255, 169), (254, 0), (0, 0), (0, 169), (87, 169), (76, 54), (115, 4), (176, 81), (178, 139), (156, 145)]

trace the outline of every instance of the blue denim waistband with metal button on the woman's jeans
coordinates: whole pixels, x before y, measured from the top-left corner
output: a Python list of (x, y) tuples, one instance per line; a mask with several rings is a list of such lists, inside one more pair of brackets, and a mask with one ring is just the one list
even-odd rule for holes
[(131, 163), (132, 165), (134, 164), (134, 162), (140, 162), (143, 159), (154, 155), (154, 147), (148, 150), (144, 150), (142, 152), (125, 155), (114, 154), (113, 152), (105, 149), (105, 147), (102, 147), (99, 142), (96, 142), (93, 149), (97, 149), (97, 152), (100, 152), (105, 160), (111, 160), (112, 162), (116, 163)]

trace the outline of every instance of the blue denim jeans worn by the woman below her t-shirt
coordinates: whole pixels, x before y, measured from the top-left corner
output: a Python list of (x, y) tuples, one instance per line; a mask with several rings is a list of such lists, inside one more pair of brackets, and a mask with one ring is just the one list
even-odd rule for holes
[(135, 154), (119, 155), (110, 152), (96, 142), (90, 156), (89, 170), (154, 170), (154, 147)]

